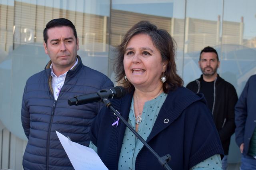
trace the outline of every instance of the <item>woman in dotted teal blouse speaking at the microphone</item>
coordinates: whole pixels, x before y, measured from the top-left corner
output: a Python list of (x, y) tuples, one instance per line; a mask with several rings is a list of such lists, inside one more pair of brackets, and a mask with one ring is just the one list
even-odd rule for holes
[[(166, 30), (135, 24), (117, 47), (117, 81), (128, 94), (113, 107), (173, 170), (221, 169), (223, 154), (212, 115), (202, 95), (184, 88), (176, 73), (176, 45)], [(92, 123), (90, 147), (110, 170), (160, 170), (153, 154), (116, 115), (103, 108)]]

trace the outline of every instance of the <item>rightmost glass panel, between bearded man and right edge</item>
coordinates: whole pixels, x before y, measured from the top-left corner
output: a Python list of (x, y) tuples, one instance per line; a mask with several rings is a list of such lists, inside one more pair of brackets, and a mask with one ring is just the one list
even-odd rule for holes
[[(238, 96), (251, 75), (256, 73), (256, 1), (224, 0), (221, 76), (232, 83)], [(231, 138), (229, 162), (240, 162), (240, 151)], [(236, 166), (239, 167), (239, 166)]]

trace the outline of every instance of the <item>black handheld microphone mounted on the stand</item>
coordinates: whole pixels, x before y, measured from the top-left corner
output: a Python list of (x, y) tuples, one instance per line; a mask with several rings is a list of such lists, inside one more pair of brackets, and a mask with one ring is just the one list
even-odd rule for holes
[(126, 90), (124, 87), (116, 86), (112, 89), (99, 90), (96, 93), (75, 96), (74, 98), (68, 99), (68, 105), (83, 105), (101, 101), (103, 98), (120, 99), (121, 97), (124, 97), (124, 95), (126, 95)]

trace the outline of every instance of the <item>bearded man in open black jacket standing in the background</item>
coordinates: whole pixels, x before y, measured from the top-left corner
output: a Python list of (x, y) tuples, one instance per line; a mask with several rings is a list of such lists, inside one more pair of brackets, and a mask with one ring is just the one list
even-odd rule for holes
[(225, 154), (222, 168), (226, 170), (230, 138), (235, 130), (234, 107), (238, 100), (236, 89), (217, 74), (220, 61), (214, 48), (205, 47), (200, 53), (198, 64), (203, 74), (186, 87), (194, 93), (203, 93), (206, 98), (222, 142)]

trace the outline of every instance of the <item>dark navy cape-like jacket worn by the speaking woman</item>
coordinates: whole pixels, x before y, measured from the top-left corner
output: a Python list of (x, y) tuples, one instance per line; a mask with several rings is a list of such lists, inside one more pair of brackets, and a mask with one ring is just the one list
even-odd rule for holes
[[(112, 100), (113, 107), (128, 120), (132, 93)], [(168, 119), (168, 123), (164, 120)], [(98, 155), (110, 170), (118, 169), (118, 160), (126, 126), (112, 126), (116, 116), (102, 108), (92, 123), (90, 138), (98, 147)], [(167, 121), (166, 121), (167, 122)], [(202, 96), (179, 87), (169, 92), (146, 142), (162, 157), (172, 156), (173, 170), (188, 170), (215, 154), (223, 154), (212, 115)], [(138, 153), (136, 170), (160, 170), (156, 158), (145, 148)]]

